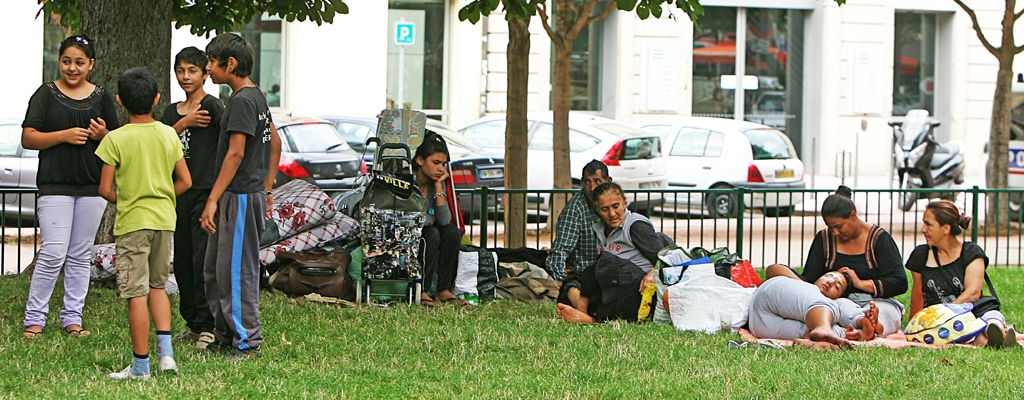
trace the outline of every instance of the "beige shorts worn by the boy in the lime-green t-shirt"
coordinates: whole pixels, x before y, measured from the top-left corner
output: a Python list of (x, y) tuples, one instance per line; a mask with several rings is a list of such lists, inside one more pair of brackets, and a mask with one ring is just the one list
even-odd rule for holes
[(164, 288), (170, 274), (174, 231), (142, 229), (117, 236), (118, 296), (133, 299)]

